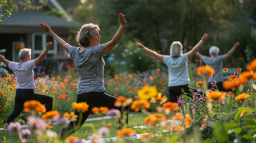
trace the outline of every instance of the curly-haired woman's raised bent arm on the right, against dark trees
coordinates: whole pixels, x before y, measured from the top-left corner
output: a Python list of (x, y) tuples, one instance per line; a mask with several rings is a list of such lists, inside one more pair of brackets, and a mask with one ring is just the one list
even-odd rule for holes
[(125, 26), (126, 26), (126, 20), (125, 20), (125, 15), (119, 14), (119, 22), (121, 23), (117, 33), (113, 36), (112, 40), (108, 41), (108, 43), (104, 44), (104, 53), (107, 54), (110, 50), (113, 49), (115, 45), (119, 43), (121, 40), (121, 37), (123, 35), (123, 31), (125, 31)]

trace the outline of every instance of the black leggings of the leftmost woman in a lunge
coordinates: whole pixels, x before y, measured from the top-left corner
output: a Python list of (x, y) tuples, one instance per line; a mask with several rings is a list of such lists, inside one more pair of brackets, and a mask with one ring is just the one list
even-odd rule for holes
[(46, 111), (52, 110), (52, 97), (46, 95), (35, 94), (33, 89), (16, 89), (14, 110), (8, 116), (6, 123), (9, 124), (23, 110), (23, 103), (28, 100), (38, 100), (42, 104), (46, 104)]

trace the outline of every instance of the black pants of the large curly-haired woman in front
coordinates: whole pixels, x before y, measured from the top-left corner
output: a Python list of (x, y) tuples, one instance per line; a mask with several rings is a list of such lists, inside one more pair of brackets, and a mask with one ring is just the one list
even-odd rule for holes
[[(66, 138), (69, 134), (76, 132), (82, 124), (84, 124), (85, 120), (88, 118), (90, 113), (92, 112), (93, 107), (108, 107), (109, 109), (115, 108), (121, 111), (121, 119), (123, 118), (123, 112), (126, 113), (126, 124), (128, 123), (128, 110), (129, 106), (125, 107), (125, 111), (122, 111), (122, 107), (115, 107), (114, 103), (117, 98), (114, 96), (110, 96), (105, 92), (85, 92), (83, 94), (77, 95), (77, 103), (86, 102), (89, 105), (88, 111), (82, 113), (81, 124), (78, 124), (79, 121), (79, 112), (75, 110), (75, 115), (77, 115), (77, 121), (71, 121), (66, 127), (64, 127), (61, 132), (61, 138)], [(119, 124), (121, 124), (121, 119), (119, 120)]]

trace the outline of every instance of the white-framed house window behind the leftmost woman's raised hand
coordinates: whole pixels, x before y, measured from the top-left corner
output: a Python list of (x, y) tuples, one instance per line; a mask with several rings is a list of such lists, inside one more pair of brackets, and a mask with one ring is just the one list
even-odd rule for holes
[(46, 43), (52, 41), (52, 47), (47, 56), (55, 56), (57, 54), (57, 43), (53, 40), (52, 36), (46, 33), (33, 33), (32, 34), (32, 55), (31, 58), (36, 58), (40, 53), (46, 49)]

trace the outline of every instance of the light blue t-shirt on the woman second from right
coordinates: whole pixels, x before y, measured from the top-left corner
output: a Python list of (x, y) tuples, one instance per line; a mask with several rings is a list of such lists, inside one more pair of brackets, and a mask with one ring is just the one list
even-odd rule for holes
[(168, 86), (188, 85), (188, 56), (183, 54), (180, 57), (172, 58), (164, 56), (163, 63), (168, 67)]

